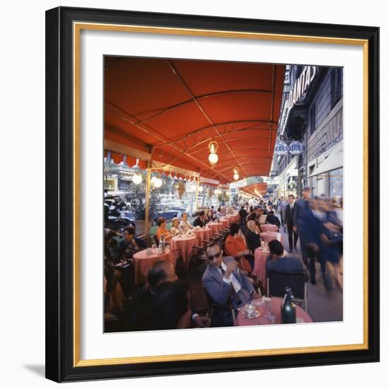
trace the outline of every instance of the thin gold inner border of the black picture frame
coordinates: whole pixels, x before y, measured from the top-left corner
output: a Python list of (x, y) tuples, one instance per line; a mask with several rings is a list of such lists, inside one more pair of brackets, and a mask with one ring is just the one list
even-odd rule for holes
[[(118, 31), (129, 33), (153, 33), (168, 35), (192, 35), (204, 37), (228, 37), (254, 40), (284, 40), (289, 42), (330, 43), (335, 45), (359, 45), (363, 47), (364, 57), (364, 342), (361, 344), (342, 344), (317, 347), (294, 347), (286, 349), (262, 349), (237, 352), (211, 352), (197, 354), (172, 354), (157, 356), (129, 356), (111, 359), (80, 359), (80, 332), (79, 332), (79, 86), (80, 86), (80, 33), (81, 30)], [(240, 31), (201, 30), (192, 28), (169, 28), (144, 25), (120, 25), (105, 23), (73, 23), (73, 162), (74, 162), (74, 247), (73, 247), (73, 276), (74, 276), (74, 314), (73, 314), (73, 344), (74, 367), (83, 366), (112, 366), (122, 364), (140, 364), (166, 361), (192, 361), (198, 359), (236, 358), (247, 356), (272, 356), (281, 354), (307, 354), (315, 352), (348, 352), (368, 349), (368, 40), (318, 37), (306, 35), (282, 35), (269, 33), (245, 33)]]

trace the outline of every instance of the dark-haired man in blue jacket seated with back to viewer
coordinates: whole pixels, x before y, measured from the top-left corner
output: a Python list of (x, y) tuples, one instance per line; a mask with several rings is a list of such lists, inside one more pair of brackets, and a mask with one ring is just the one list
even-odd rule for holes
[(284, 246), (278, 240), (270, 240), (269, 242), (270, 255), (266, 261), (266, 272), (269, 274), (272, 270), (279, 272), (305, 272), (306, 281), (308, 281), (308, 270), (298, 257), (289, 256)]

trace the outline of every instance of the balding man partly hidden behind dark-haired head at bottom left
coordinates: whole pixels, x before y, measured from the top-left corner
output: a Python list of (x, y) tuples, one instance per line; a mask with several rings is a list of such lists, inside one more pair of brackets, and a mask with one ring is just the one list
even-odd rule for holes
[[(158, 295), (158, 286), (166, 282), (175, 282), (178, 280), (175, 274), (174, 266), (171, 262), (159, 260), (153, 263), (147, 274), (147, 285), (143, 293), (139, 296), (139, 310), (137, 313), (137, 329), (146, 330), (149, 322), (149, 308), (153, 305)], [(193, 324), (196, 327), (209, 327), (210, 319), (207, 316), (200, 316), (192, 312)]]

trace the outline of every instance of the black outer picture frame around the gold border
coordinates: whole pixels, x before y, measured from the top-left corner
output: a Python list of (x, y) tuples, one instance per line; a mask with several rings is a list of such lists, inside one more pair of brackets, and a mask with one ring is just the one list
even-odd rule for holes
[[(110, 366), (74, 366), (73, 22), (368, 41), (368, 347)], [(53, 381), (379, 361), (379, 28), (59, 7), (46, 12), (46, 376)]]

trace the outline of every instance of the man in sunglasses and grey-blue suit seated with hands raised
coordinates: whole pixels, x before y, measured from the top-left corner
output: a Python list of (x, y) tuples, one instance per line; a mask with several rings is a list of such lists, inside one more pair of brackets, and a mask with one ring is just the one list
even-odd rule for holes
[[(204, 289), (216, 304), (230, 304), (235, 310), (244, 306), (253, 298), (260, 296), (255, 293), (248, 277), (240, 273), (238, 264), (233, 257), (223, 257), (218, 243), (207, 247), (209, 265), (204, 272), (202, 282)], [(213, 326), (233, 325), (231, 311), (224, 310), (218, 318), (212, 318)]]

